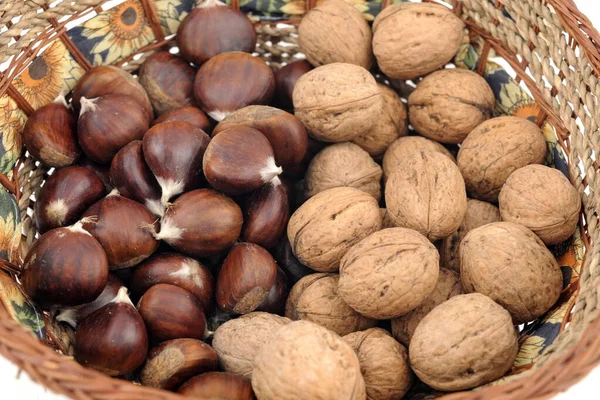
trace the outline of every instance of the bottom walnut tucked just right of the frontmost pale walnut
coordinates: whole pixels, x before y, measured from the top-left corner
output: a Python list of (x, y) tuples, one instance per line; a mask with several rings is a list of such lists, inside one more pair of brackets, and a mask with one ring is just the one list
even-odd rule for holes
[(413, 383), (406, 348), (380, 328), (354, 332), (342, 339), (358, 356), (368, 400), (401, 399)]

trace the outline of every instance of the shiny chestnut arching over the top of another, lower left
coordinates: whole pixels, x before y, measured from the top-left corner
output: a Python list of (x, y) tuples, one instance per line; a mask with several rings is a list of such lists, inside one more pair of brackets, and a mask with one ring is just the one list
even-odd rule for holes
[(140, 298), (151, 286), (168, 283), (179, 286), (202, 304), (205, 315), (213, 308), (214, 280), (200, 262), (177, 253), (154, 254), (139, 264), (131, 277), (131, 296)]

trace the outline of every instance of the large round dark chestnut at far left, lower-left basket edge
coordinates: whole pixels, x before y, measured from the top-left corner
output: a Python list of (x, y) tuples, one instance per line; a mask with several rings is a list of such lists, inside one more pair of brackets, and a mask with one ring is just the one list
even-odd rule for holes
[(106, 254), (81, 221), (40, 236), (27, 252), (21, 274), (25, 292), (44, 308), (94, 301), (107, 279)]

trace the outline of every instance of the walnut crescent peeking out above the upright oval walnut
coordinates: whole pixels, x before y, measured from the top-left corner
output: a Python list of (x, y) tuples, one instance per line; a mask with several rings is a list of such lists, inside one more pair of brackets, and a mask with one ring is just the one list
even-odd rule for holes
[(396, 166), (412, 153), (420, 153), (421, 151), (430, 151), (440, 153), (456, 163), (456, 159), (450, 151), (433, 140), (429, 140), (422, 136), (405, 136), (397, 139), (388, 147), (383, 156), (383, 181), (387, 182), (390, 174)]

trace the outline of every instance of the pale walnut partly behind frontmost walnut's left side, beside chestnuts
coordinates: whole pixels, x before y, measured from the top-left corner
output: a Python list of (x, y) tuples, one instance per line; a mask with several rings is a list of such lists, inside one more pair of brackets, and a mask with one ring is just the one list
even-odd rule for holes
[(271, 341), (279, 328), (290, 322), (288, 318), (265, 312), (252, 312), (225, 322), (217, 328), (212, 341), (221, 367), (251, 378), (260, 349)]

